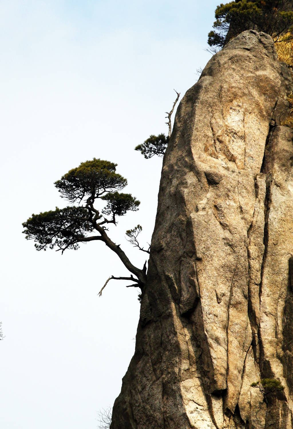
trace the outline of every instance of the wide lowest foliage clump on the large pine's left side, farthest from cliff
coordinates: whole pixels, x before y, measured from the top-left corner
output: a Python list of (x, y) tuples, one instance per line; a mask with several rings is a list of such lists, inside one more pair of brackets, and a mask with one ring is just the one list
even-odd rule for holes
[(36, 250), (47, 247), (78, 249), (87, 232), (93, 231), (89, 212), (83, 207), (65, 207), (32, 215), (24, 222), (23, 231), (27, 240), (34, 240)]

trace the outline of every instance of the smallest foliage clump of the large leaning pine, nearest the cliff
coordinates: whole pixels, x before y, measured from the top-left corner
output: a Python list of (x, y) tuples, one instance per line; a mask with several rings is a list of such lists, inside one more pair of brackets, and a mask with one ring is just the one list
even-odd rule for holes
[(108, 192), (101, 197), (107, 201), (107, 205), (102, 211), (105, 215), (123, 216), (126, 211), (137, 211), (141, 204), (131, 193)]

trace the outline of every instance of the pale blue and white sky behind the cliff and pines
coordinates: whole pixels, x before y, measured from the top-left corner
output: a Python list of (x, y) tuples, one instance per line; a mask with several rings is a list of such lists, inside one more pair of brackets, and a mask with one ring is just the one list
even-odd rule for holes
[[(140, 210), (111, 237), (150, 240), (161, 159), (133, 150), (165, 132), (175, 88), (197, 81), (210, 54), (217, 1), (0, 0), (2, 156), (1, 429), (95, 429), (113, 405), (134, 351), (137, 291), (109, 283), (126, 274), (116, 255), (89, 243), (36, 252), (21, 234), (32, 212), (63, 206), (54, 181), (84, 160), (118, 163)], [(100, 243), (99, 243), (100, 244)]]

